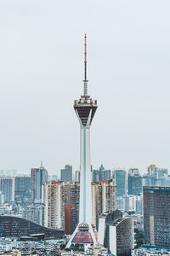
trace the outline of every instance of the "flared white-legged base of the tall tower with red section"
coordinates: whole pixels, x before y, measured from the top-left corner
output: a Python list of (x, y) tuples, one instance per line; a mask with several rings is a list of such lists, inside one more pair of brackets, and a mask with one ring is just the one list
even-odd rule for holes
[(81, 223), (77, 225), (76, 230), (73, 232), (66, 248), (74, 249), (78, 247), (86, 250), (91, 245), (96, 245), (96, 237), (92, 224)]

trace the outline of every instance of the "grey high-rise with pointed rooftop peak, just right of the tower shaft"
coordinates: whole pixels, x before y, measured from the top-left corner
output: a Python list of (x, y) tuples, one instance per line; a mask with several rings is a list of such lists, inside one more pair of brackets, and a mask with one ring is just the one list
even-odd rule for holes
[(99, 180), (110, 180), (111, 179), (111, 170), (105, 170), (105, 167), (101, 165), (99, 170), (93, 171), (93, 182), (96, 183)]

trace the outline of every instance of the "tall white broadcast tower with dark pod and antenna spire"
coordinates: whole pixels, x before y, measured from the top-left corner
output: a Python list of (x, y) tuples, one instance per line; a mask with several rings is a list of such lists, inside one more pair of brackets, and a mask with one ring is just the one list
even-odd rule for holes
[(88, 79), (87, 79), (87, 51), (86, 35), (84, 44), (84, 80), (83, 95), (80, 100), (74, 103), (74, 109), (80, 123), (80, 154), (81, 154), (81, 184), (80, 184), (80, 212), (79, 224), (71, 236), (66, 247), (73, 245), (95, 244), (96, 239), (92, 227), (92, 193), (91, 193), (91, 163), (90, 163), (90, 126), (94, 119), (94, 113), (97, 109), (97, 101), (88, 96)]

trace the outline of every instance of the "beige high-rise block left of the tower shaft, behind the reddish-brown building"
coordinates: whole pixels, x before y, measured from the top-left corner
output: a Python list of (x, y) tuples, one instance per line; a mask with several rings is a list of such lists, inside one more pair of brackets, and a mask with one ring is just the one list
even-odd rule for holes
[[(51, 228), (59, 228), (62, 230), (66, 229), (66, 232), (70, 232), (70, 230), (73, 230), (73, 227), (75, 229), (76, 225), (78, 224), (79, 198), (79, 183), (64, 183), (52, 181), (51, 183), (46, 183), (42, 185), (42, 203), (45, 205), (45, 226)], [(71, 207), (71, 209), (66, 206)], [(74, 215), (74, 221), (67, 221), (67, 224), (70, 224), (70, 226), (66, 227), (65, 212), (67, 216), (70, 216), (69, 218), (72, 218), (72, 216)]]

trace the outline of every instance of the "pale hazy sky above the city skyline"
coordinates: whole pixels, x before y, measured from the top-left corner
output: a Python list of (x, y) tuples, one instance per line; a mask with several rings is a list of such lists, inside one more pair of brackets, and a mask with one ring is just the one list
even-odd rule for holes
[(0, 169), (79, 166), (83, 34), (94, 168), (170, 168), (169, 0), (0, 1)]

